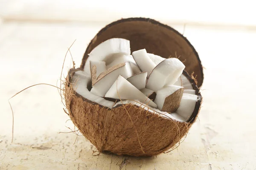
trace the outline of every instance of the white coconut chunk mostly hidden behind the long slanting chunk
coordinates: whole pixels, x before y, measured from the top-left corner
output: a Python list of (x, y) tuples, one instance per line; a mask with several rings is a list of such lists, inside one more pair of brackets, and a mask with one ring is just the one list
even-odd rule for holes
[(108, 60), (108, 65), (106, 67), (108, 69), (108, 68), (111, 68), (114, 65), (124, 63), (124, 62), (131, 62), (131, 69), (134, 72), (134, 74), (138, 74), (138, 73), (141, 72), (140, 68), (138, 67), (138, 65), (134, 61), (134, 58), (132, 57), (132, 55), (125, 55), (125, 54), (122, 54), (122, 53), (113, 55), (111, 57), (111, 59)]

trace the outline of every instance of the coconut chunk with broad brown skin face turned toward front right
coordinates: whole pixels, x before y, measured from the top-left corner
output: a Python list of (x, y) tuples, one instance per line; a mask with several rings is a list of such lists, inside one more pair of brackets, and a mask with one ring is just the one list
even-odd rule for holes
[(175, 112), (180, 105), (183, 94), (183, 87), (177, 85), (167, 85), (157, 91), (154, 102), (160, 111)]

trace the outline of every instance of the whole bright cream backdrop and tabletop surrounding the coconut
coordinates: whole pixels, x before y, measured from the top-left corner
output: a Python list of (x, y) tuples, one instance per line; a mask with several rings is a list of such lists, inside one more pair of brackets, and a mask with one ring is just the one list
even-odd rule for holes
[[(0, 169), (122, 169), (125, 159), (128, 169), (255, 168), (255, 6), (252, 0), (0, 0)], [(204, 103), (180, 147), (154, 159), (92, 156), (94, 148), (83, 136), (58, 133), (74, 126), (57, 89), (47, 85), (10, 100), (15, 115), (11, 144), (8, 99), (37, 83), (59, 87), (67, 48), (76, 40), (70, 50), (78, 67), (97, 32), (127, 17), (167, 24), (198, 51), (204, 66)], [(62, 79), (71, 66), (68, 54)]]

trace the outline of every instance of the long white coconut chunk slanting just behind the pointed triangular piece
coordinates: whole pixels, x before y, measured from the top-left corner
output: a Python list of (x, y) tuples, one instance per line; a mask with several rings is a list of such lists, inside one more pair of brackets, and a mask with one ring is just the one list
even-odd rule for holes
[(105, 96), (119, 75), (125, 78), (131, 77), (133, 75), (130, 62), (115, 65), (100, 74), (97, 78), (97, 82), (94, 83), (90, 92), (98, 96)]

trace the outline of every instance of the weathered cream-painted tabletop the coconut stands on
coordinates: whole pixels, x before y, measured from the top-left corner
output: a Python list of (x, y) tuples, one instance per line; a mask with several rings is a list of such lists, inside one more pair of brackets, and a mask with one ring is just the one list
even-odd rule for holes
[[(172, 25), (183, 31), (182, 25)], [(154, 157), (97, 154), (84, 136), (70, 132), (56, 88), (67, 47), (79, 66), (87, 44), (105, 23), (0, 20), (1, 170), (255, 170), (256, 30), (186, 26), (204, 65), (203, 106), (186, 139)], [(64, 76), (71, 65), (64, 64)], [(59, 83), (60, 81), (58, 81)], [(67, 122), (66, 122), (67, 121)], [(66, 127), (67, 126), (67, 127)], [(79, 134), (81, 135), (81, 133)], [(77, 137), (77, 139), (76, 139)]]

